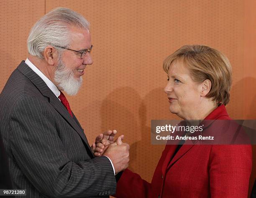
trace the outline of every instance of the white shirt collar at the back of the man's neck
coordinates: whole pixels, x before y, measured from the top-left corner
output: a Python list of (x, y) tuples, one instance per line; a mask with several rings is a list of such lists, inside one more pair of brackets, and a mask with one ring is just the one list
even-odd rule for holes
[(31, 63), (30, 60), (28, 60), (28, 58), (25, 60), (26, 65), (28, 65), (28, 67), (31, 68), (31, 70), (33, 70), (37, 75), (39, 75), (40, 78), (42, 78), (42, 80), (44, 80), (44, 82), (46, 83), (46, 85), (49, 87), (49, 89), (54, 93), (54, 95), (56, 95), (56, 97), (58, 98), (60, 95), (60, 91), (59, 89), (56, 87), (56, 85), (54, 85), (53, 82), (51, 82), (51, 80), (49, 80), (49, 78), (47, 78), (33, 63)]

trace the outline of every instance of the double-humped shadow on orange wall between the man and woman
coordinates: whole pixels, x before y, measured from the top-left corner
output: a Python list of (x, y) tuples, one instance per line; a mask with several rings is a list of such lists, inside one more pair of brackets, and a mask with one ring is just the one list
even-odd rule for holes
[(169, 112), (163, 88), (143, 98), (133, 88), (115, 89), (103, 100), (100, 115), (102, 131), (116, 129), (130, 144), (129, 168), (150, 182), (165, 146), (151, 144), (151, 120), (179, 119)]

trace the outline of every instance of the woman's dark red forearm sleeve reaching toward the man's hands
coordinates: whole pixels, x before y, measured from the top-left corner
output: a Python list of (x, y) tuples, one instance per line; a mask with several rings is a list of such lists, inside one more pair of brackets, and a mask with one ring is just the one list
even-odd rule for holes
[(140, 175), (126, 169), (118, 180), (116, 198), (143, 197), (148, 198), (151, 195), (151, 183), (143, 180)]

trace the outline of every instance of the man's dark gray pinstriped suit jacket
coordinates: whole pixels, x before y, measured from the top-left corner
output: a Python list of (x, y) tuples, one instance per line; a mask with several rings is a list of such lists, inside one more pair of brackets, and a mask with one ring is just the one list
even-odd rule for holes
[(0, 133), (14, 189), (27, 197), (102, 197), (115, 193), (110, 160), (94, 158), (77, 118), (25, 64), (0, 94)]

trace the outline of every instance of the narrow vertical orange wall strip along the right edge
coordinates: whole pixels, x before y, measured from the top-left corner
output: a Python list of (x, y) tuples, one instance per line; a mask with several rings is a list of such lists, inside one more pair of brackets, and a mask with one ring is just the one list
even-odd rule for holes
[[(243, 103), (245, 119), (256, 120), (256, 1), (246, 0), (244, 6), (244, 77)], [(256, 126), (256, 123), (254, 127)], [(250, 179), (249, 192), (256, 178), (256, 145), (253, 145), (253, 170)]]

